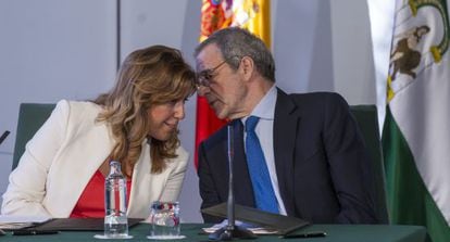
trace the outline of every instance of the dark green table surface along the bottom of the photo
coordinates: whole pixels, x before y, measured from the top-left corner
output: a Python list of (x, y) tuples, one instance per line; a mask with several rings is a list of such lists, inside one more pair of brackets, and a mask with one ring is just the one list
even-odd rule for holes
[[(211, 225), (203, 224), (182, 224), (182, 234), (186, 239), (170, 241), (208, 241), (208, 235), (202, 233), (201, 228)], [(149, 224), (139, 224), (129, 229), (129, 234), (134, 238), (130, 241), (154, 241), (147, 239), (150, 231)], [(325, 231), (326, 237), (309, 239), (282, 239), (278, 235), (260, 235), (253, 241), (302, 241), (302, 242), (325, 242), (325, 241), (345, 241), (345, 242), (426, 242), (429, 241), (426, 229), (421, 226), (390, 226), (390, 225), (312, 225), (299, 230), (305, 231)], [(93, 235), (101, 234), (98, 231), (61, 231), (58, 234), (48, 235), (1, 235), (0, 241), (117, 241), (117, 240), (99, 240)], [(166, 240), (167, 241), (167, 240)], [(235, 240), (238, 241), (238, 240)], [(249, 241), (249, 240), (246, 240)]]

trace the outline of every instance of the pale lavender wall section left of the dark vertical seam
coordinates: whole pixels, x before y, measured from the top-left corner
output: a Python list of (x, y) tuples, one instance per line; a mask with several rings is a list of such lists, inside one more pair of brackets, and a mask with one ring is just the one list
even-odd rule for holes
[(0, 193), (7, 188), (18, 105), (91, 99), (116, 69), (111, 0), (0, 1)]

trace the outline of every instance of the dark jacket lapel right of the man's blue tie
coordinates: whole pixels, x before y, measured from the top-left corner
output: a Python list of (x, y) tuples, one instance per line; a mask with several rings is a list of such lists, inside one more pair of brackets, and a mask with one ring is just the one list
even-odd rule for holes
[(295, 216), (293, 152), (300, 116), (297, 105), (278, 89), (274, 119), (274, 156), (276, 175), (286, 212)]

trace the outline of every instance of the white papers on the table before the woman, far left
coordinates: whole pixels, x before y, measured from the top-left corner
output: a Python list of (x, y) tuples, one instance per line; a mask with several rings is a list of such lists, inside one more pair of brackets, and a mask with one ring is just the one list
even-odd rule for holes
[(0, 215), (0, 229), (15, 230), (36, 226), (50, 220), (46, 216)]

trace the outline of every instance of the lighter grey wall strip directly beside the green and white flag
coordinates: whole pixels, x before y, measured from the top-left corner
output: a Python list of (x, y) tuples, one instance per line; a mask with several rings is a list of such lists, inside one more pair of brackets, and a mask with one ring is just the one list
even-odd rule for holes
[(333, 76), (335, 90), (350, 103), (376, 103), (376, 82), (373, 65), (366, 1), (329, 1), (332, 5)]

